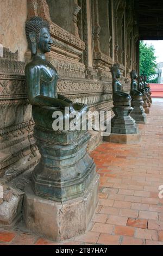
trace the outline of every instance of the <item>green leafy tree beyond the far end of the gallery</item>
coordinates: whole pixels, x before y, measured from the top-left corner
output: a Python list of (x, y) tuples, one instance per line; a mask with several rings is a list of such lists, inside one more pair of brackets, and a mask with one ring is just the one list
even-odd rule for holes
[[(156, 56), (153, 45), (148, 46), (140, 41), (140, 75), (148, 77), (148, 82), (154, 80), (156, 74)], [(151, 79), (150, 79), (151, 78)], [(156, 80), (155, 80), (156, 81)]]

